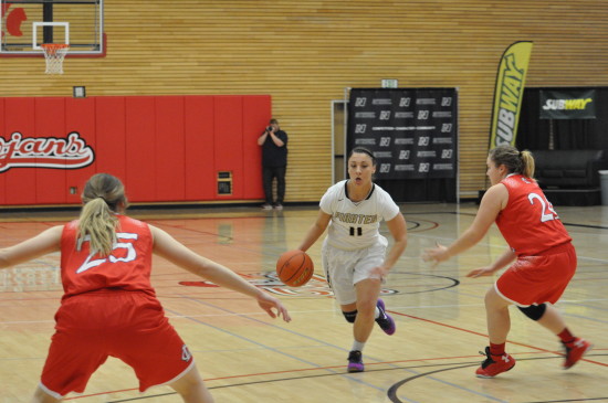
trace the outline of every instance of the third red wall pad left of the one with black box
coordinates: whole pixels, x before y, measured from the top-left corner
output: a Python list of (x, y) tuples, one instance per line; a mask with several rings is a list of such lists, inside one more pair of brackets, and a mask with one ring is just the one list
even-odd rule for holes
[(132, 202), (156, 201), (155, 97), (125, 97), (126, 178)]

